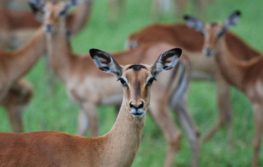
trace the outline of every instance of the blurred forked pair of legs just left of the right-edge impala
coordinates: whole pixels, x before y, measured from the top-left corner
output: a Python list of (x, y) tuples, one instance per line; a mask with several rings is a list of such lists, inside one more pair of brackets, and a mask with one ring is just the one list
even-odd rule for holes
[(232, 112), (230, 104), (230, 93), (229, 85), (227, 82), (222, 79), (217, 79), (217, 105), (219, 109), (219, 119), (216, 120), (216, 123), (208, 130), (208, 132), (203, 137), (203, 142), (209, 140), (215, 132), (226, 123), (228, 141), (230, 146), (232, 145)]

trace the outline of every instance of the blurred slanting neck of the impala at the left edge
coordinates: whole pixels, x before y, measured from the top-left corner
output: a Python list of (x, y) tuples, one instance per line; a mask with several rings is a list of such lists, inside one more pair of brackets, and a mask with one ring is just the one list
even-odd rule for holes
[(8, 68), (11, 81), (24, 76), (46, 51), (46, 37), (43, 27), (19, 50), (11, 52)]

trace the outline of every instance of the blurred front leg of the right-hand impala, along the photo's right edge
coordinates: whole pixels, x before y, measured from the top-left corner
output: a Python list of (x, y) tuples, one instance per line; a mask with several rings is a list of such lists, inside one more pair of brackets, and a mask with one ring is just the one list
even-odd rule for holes
[(262, 104), (252, 103), (252, 108), (254, 111), (255, 119), (255, 132), (253, 140), (253, 159), (252, 167), (258, 166), (258, 152), (260, 148), (260, 139), (262, 134), (262, 125), (263, 125), (263, 106)]

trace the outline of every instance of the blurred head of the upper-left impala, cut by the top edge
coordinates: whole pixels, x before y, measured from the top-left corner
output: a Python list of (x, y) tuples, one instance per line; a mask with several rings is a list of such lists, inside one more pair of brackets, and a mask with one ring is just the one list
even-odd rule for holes
[(30, 0), (30, 6), (38, 20), (44, 24), (47, 33), (54, 34), (59, 29), (60, 21), (64, 21), (69, 9), (77, 5), (80, 0), (69, 0), (68, 2), (43, 0)]

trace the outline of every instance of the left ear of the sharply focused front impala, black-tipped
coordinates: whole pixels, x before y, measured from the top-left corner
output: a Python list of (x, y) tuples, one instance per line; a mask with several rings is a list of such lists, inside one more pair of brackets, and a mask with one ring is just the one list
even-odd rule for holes
[(90, 49), (89, 54), (100, 70), (105, 71), (106, 73), (112, 73), (118, 79), (122, 76), (122, 67), (110, 54), (99, 49)]

